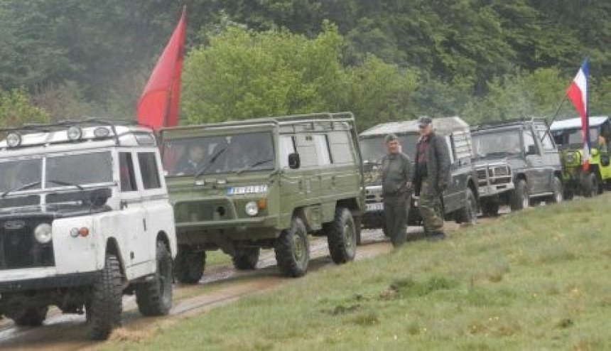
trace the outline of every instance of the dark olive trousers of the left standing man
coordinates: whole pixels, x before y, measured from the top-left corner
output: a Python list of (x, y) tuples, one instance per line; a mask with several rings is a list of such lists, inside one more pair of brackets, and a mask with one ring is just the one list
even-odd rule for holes
[(384, 195), (384, 230), (394, 247), (404, 244), (407, 240), (410, 195), (409, 192)]

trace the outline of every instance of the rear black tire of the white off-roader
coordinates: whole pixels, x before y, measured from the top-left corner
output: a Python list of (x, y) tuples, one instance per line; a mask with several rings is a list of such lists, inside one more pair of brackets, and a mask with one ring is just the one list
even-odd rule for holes
[(157, 242), (156, 260), (155, 279), (136, 286), (136, 303), (142, 315), (168, 315), (172, 308), (172, 255), (163, 242)]

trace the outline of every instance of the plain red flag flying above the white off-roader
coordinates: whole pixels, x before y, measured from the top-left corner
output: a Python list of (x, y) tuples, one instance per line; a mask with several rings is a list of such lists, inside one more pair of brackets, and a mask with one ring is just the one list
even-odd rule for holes
[(138, 123), (159, 129), (178, 125), (180, 103), (180, 73), (185, 51), (186, 6), (170, 42), (161, 53), (157, 65), (146, 82), (138, 102)]

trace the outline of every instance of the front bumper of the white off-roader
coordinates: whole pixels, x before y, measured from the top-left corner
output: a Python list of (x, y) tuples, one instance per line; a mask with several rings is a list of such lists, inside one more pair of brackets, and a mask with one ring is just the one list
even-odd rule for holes
[(88, 286), (97, 279), (97, 271), (57, 274), (55, 268), (13, 269), (1, 271), (0, 293), (36, 291), (50, 288)]

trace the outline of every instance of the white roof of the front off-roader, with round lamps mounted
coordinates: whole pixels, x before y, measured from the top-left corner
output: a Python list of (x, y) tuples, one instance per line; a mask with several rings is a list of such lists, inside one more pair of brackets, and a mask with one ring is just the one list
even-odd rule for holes
[[(68, 139), (67, 131), (72, 126), (81, 130), (82, 136), (77, 141)], [(102, 128), (107, 129), (107, 135), (96, 136), (94, 131)], [(6, 134), (0, 141), (0, 150), (22, 151), (19, 153), (34, 153), (40, 147), (49, 146), (69, 146), (74, 150), (104, 146), (156, 146), (153, 131), (148, 127), (136, 125), (135, 121), (60, 121), (55, 124), (24, 124), (16, 128), (0, 129), (0, 132)], [(11, 147), (7, 144), (6, 136), (12, 133), (21, 136), (18, 146)]]

